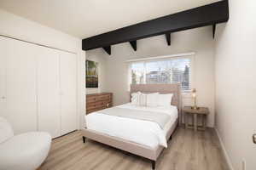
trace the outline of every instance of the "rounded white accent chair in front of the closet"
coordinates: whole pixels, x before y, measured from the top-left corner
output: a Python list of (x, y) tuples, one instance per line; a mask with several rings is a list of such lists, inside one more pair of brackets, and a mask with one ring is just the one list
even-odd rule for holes
[(0, 169), (35, 170), (48, 156), (49, 133), (32, 132), (14, 136), (9, 122), (0, 117)]

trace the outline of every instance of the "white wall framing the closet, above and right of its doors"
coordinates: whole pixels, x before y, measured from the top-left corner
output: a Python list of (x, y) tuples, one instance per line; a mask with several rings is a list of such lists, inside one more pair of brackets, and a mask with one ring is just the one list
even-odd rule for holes
[[(42, 26), (31, 20), (26, 20), (15, 14), (10, 14), (0, 9), (0, 34), (17, 37), (30, 42), (37, 42), (54, 48), (72, 51), (78, 56), (78, 111), (85, 113), (85, 79), (84, 60), (85, 53), (82, 51), (82, 41), (77, 37), (69, 36), (61, 31), (56, 31), (47, 26)], [(79, 122), (82, 119), (78, 120)], [(81, 124), (81, 123), (79, 123)]]

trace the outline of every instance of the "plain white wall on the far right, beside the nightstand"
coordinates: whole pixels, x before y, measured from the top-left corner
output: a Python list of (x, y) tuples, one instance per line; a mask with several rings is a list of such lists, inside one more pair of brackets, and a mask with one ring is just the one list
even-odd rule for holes
[(230, 165), (256, 169), (256, 2), (230, 1), (230, 20), (217, 27), (216, 128)]

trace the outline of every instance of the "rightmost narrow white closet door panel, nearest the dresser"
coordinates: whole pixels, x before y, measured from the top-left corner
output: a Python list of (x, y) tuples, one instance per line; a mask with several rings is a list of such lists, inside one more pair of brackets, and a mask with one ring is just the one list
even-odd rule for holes
[(61, 134), (77, 129), (77, 56), (61, 52)]

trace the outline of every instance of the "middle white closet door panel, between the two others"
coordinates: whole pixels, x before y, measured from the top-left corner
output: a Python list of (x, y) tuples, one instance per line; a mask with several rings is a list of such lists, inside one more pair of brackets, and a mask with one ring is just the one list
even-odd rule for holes
[(38, 47), (38, 130), (61, 135), (59, 51)]

